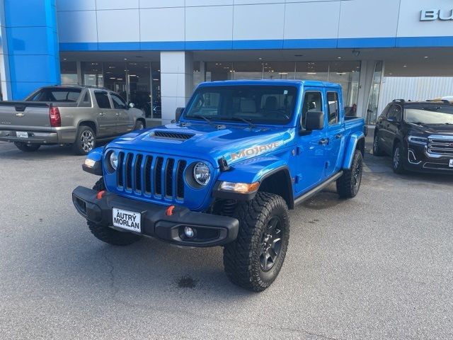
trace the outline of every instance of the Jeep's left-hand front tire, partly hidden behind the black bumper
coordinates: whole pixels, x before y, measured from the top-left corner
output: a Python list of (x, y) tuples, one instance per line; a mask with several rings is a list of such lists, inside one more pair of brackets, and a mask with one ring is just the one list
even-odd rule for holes
[[(96, 182), (93, 190), (105, 190), (103, 177)], [(106, 225), (98, 225), (91, 221), (86, 221), (86, 224), (97, 239), (108, 244), (113, 244), (114, 246), (128, 246), (142, 238), (141, 235), (132, 234), (132, 232), (119, 232)]]

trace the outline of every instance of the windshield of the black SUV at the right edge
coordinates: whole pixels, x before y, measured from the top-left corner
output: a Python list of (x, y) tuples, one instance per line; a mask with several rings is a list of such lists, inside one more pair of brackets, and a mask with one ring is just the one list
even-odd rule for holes
[(406, 108), (404, 119), (414, 124), (453, 124), (453, 106), (414, 106)]

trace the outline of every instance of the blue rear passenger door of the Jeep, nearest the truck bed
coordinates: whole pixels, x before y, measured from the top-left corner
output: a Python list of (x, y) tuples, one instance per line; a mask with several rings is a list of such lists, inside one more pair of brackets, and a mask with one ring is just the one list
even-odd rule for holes
[(341, 169), (345, 142), (345, 127), (340, 115), (339, 89), (326, 91), (327, 94), (327, 126), (326, 126), (326, 177), (336, 174)]

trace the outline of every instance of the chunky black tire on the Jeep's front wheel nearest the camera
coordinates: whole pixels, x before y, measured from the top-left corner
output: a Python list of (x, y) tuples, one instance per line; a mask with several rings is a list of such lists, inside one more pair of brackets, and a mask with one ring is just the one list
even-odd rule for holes
[[(237, 205), (234, 217), (239, 220), (239, 234), (234, 242), (224, 247), (226, 276), (236, 285), (260, 292), (273, 283), (285, 261), (289, 240), (287, 204), (281, 196), (258, 192), (253, 200)], [(263, 271), (261, 246), (269, 222), (273, 220), (280, 221), (280, 250), (272, 267)]]

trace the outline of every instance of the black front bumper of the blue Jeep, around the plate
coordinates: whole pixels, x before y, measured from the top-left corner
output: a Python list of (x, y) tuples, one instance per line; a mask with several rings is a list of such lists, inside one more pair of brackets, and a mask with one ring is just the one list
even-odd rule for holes
[[(76, 210), (87, 220), (113, 227), (113, 208), (140, 212), (141, 234), (156, 237), (164, 242), (181, 246), (221, 246), (233, 242), (239, 231), (239, 221), (233, 217), (193, 212), (176, 206), (173, 215), (167, 215), (167, 207), (117, 196), (105, 191), (97, 198), (98, 191), (78, 186), (72, 192)], [(185, 237), (184, 228), (191, 227), (195, 236)], [(125, 230), (128, 232), (128, 230)]]

